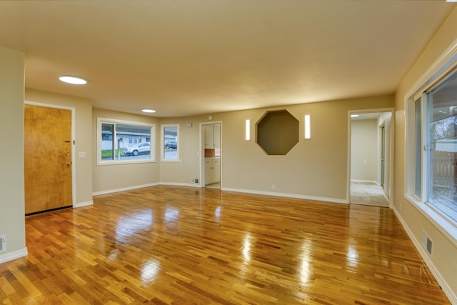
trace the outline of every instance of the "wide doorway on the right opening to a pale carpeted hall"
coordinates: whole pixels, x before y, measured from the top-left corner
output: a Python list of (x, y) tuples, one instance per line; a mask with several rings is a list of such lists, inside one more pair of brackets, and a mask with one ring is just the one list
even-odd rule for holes
[(348, 202), (390, 206), (392, 111), (350, 112)]

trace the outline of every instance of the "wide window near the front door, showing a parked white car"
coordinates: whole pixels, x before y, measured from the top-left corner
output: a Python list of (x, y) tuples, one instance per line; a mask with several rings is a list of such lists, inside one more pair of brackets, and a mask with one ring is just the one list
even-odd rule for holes
[(97, 130), (97, 165), (155, 161), (154, 124), (98, 118)]

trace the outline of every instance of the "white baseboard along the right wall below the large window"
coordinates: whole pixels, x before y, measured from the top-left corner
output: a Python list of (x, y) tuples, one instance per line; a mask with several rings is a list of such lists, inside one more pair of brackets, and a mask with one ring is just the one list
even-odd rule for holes
[(433, 264), (430, 255), (428, 254), (426, 249), (423, 248), (421, 241), (418, 241), (416, 239), (416, 236), (414, 236), (413, 231), (409, 229), (408, 225), (406, 224), (406, 221), (404, 221), (403, 217), (401, 217), (401, 214), (398, 212), (395, 206), (393, 207), (393, 212), (396, 214), (398, 220), (405, 229), (406, 234), (408, 234), (411, 241), (413, 241), (414, 246), (421, 255), (423, 261), (425, 261), (426, 265), (428, 266), (428, 269), (430, 269), (433, 276), (435, 276), (435, 279), (436, 281), (438, 281), (438, 284), (440, 285), (441, 289), (443, 289), (444, 294), (446, 294), (449, 301), (451, 301), (451, 304), (457, 305), (457, 295), (452, 291), (451, 287), (448, 285), (446, 280), (443, 279), (443, 276), (441, 276), (438, 269), (436, 269), (436, 266), (435, 264)]

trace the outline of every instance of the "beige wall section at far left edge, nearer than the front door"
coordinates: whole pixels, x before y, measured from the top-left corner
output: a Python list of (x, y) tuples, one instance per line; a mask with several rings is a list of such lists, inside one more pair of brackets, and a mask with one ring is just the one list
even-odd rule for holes
[[(24, 219), (24, 54), (0, 46), (0, 263), (27, 254)], [(10, 149), (14, 149), (11, 151)]]

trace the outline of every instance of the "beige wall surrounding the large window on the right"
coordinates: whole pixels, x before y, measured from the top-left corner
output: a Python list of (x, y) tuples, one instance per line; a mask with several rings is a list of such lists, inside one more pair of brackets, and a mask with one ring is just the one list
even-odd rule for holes
[(433, 40), (428, 44), (416, 63), (404, 77), (398, 91), (396, 92), (396, 122), (395, 122), (395, 185), (394, 185), (394, 209), (406, 226), (411, 239), (416, 246), (421, 248), (423, 230), (433, 240), (433, 255), (423, 256), (431, 265), (432, 271), (440, 281), (443, 290), (451, 301), (457, 304), (457, 241), (455, 236), (446, 234), (435, 221), (426, 216), (418, 209), (415, 204), (408, 201), (405, 187), (405, 97), (416, 82), (426, 74), (433, 63), (443, 54), (443, 52), (455, 44), (457, 39), (457, 9), (453, 11), (448, 20), (443, 24)]

